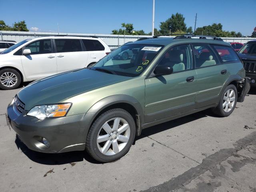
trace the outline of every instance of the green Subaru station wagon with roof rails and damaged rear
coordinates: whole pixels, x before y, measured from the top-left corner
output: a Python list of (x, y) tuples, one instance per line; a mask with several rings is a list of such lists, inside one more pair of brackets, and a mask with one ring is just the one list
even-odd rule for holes
[[(123, 59), (124, 52), (132, 56)], [(32, 150), (87, 150), (110, 162), (144, 128), (207, 108), (229, 116), (249, 89), (240, 58), (220, 38), (154, 36), (121, 46), (90, 68), (29, 84), (6, 118)]]

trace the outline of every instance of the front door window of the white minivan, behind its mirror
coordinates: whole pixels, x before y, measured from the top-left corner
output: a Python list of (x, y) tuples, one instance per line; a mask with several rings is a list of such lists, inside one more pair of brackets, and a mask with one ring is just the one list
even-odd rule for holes
[(26, 45), (25, 49), (30, 49), (32, 55), (47, 54), (52, 52), (52, 43), (50, 39), (39, 40)]

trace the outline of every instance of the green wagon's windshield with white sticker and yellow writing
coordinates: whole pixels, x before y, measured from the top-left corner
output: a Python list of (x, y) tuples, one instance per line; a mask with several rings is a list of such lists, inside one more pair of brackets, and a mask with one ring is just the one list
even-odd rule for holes
[(124, 45), (102, 58), (91, 69), (136, 77), (147, 68), (162, 47), (162, 45)]

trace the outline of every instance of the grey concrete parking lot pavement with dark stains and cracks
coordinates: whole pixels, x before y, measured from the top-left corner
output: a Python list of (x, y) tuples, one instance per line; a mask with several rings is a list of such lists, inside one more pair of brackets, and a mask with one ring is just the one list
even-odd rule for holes
[(123, 158), (100, 164), (16, 140), (5, 113), (18, 90), (0, 90), (1, 192), (256, 192), (256, 91), (226, 118), (205, 110), (144, 129)]

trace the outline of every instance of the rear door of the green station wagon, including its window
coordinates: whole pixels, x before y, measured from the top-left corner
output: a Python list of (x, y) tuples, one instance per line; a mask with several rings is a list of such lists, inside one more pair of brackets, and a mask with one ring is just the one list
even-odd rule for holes
[[(219, 100), (222, 86), (228, 78), (227, 68), (220, 65), (220, 54), (226, 50), (214, 50), (209, 44), (192, 44), (197, 73), (196, 108), (210, 106)], [(198, 51), (200, 50), (200, 51)]]

